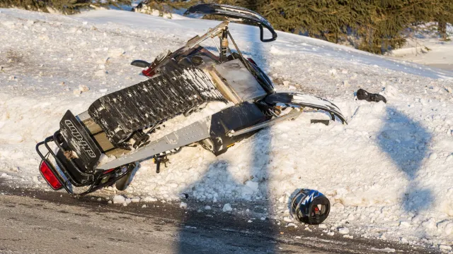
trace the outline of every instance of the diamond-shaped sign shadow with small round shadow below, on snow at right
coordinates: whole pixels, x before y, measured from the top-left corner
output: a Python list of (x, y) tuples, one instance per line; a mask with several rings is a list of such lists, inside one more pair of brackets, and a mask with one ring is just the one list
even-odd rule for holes
[(429, 189), (422, 188), (416, 180), (422, 162), (427, 157), (432, 135), (397, 109), (386, 108), (386, 123), (377, 137), (381, 149), (391, 157), (398, 169), (409, 181), (403, 200), (407, 212), (420, 212), (431, 206), (433, 196)]

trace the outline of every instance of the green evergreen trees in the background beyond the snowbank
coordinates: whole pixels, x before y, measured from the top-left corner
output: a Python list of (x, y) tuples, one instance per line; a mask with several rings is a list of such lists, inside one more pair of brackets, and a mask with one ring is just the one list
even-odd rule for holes
[[(70, 14), (92, 5), (130, 4), (130, 0), (96, 1), (0, 0), (0, 7), (47, 11), (49, 6)], [(453, 0), (144, 0), (160, 13), (201, 2), (243, 6), (268, 18), (276, 30), (348, 43), (377, 54), (402, 47), (404, 31), (428, 22), (436, 22), (440, 36), (448, 40), (447, 23), (453, 23)]]

